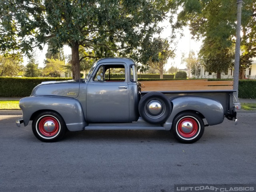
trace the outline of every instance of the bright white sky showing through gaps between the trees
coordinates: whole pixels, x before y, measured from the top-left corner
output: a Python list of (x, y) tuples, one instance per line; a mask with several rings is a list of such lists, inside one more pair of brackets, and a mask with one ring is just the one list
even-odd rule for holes
[[(168, 22), (168, 20), (160, 23), (160, 26), (165, 27), (160, 36), (162, 38), (168, 38), (170, 36), (170, 32), (171, 32), (170, 23)], [(166, 65), (166, 70), (168, 70), (171, 66), (177, 67), (179, 69), (185, 69), (186, 65), (180, 64), (182, 52), (185, 53), (185, 57), (188, 57), (190, 49), (194, 50), (194, 52), (196, 54), (200, 50), (202, 41), (195, 41), (195, 40), (190, 39), (190, 32), (189, 32), (188, 28), (184, 28), (183, 33), (184, 33), (184, 36), (178, 40), (178, 44), (176, 46), (176, 51), (175, 51), (176, 56), (175, 56), (175, 58), (168, 60), (168, 63)], [(42, 51), (36, 50), (39, 67), (44, 67), (44, 60), (45, 60), (45, 54), (46, 54), (47, 48), (48, 48), (48, 46), (44, 45), (44, 48)], [(64, 46), (64, 55), (68, 55), (68, 54), (71, 54), (71, 49), (68, 46)], [(27, 58), (24, 58), (23, 64), (24, 65), (27, 64)]]

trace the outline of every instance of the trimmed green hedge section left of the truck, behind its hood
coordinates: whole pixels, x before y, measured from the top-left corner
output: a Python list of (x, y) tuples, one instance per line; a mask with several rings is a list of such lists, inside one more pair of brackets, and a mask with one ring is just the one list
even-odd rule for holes
[(61, 81), (72, 78), (0, 77), (0, 97), (27, 97), (33, 88), (44, 81)]

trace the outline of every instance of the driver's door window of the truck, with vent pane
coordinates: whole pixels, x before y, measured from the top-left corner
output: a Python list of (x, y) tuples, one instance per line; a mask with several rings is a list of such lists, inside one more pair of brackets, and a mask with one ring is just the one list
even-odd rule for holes
[(120, 64), (100, 66), (93, 80), (98, 82), (124, 82), (125, 67)]

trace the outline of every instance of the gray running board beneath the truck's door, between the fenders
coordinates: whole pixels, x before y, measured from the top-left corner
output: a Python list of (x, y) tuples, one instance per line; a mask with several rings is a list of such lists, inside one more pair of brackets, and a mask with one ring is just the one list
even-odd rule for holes
[(159, 124), (149, 124), (147, 122), (131, 123), (90, 123), (84, 130), (165, 130)]

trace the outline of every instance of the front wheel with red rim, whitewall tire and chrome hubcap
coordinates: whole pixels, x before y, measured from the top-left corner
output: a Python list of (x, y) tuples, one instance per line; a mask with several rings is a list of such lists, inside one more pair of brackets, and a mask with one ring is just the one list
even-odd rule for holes
[(66, 124), (55, 112), (43, 112), (32, 122), (32, 131), (36, 138), (43, 142), (56, 142), (66, 132)]

